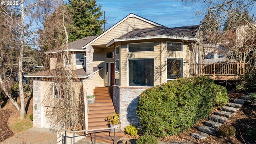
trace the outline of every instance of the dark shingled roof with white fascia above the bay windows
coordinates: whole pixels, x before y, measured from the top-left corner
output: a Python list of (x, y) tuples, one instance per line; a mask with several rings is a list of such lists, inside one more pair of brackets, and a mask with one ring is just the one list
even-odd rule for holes
[(159, 26), (154, 28), (134, 29), (119, 38), (113, 39), (106, 46), (111, 46), (114, 42), (127, 40), (142, 40), (151, 38), (172, 38), (180, 40), (198, 40), (196, 34), (200, 25), (181, 26), (176, 28), (167, 28)]

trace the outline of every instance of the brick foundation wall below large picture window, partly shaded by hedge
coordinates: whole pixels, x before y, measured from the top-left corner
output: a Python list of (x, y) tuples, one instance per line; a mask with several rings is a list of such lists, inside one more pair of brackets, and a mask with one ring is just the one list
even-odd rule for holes
[(120, 113), (120, 122), (122, 123), (122, 129), (130, 124), (138, 126), (140, 119), (137, 117), (136, 108), (138, 105), (138, 99), (140, 94), (146, 89), (147, 88), (143, 87), (113, 86), (113, 103), (116, 112)]

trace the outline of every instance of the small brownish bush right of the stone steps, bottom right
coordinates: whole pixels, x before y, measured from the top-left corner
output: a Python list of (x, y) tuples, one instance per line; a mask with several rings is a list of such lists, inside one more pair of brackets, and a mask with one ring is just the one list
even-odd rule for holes
[(220, 137), (228, 138), (236, 135), (236, 128), (230, 125), (222, 125), (218, 128), (218, 134)]

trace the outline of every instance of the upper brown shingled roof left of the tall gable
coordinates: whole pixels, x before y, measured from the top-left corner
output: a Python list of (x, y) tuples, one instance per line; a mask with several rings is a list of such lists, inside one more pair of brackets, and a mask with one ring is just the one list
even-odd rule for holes
[[(79, 40), (76, 40), (74, 42), (70, 42), (68, 44), (68, 48), (70, 51), (82, 51), (84, 52), (85, 50), (82, 49), (82, 47), (86, 44), (88, 44), (89, 42), (91, 42), (92, 40), (94, 40), (95, 38), (97, 38), (97, 36), (86, 36), (85, 38), (81, 38)], [(52, 50), (49, 50), (47, 52), (44, 52), (46, 54), (49, 53), (56, 53), (56, 52), (60, 52), (60, 51), (66, 51), (66, 48), (64, 48), (63, 46), (60, 46), (58, 48), (54, 48)]]

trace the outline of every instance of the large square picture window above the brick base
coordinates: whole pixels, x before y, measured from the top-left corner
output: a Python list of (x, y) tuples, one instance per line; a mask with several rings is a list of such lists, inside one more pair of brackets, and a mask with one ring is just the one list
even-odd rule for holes
[(154, 58), (128, 60), (129, 86), (154, 86)]

